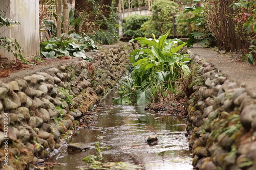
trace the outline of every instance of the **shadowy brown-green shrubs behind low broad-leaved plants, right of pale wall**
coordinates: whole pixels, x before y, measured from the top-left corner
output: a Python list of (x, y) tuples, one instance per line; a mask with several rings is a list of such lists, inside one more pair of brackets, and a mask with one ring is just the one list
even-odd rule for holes
[[(93, 4), (91, 11), (76, 12), (74, 9), (70, 10), (68, 35), (76, 33), (83, 36), (82, 34), (86, 33), (97, 43), (116, 43), (119, 40), (117, 32), (119, 28), (117, 18), (119, 16), (114, 12), (114, 7), (108, 7), (110, 15), (106, 18), (100, 2), (96, 0), (90, 0), (90, 2)], [(53, 13), (53, 18), (53, 20), (42, 20), (44, 25), (40, 27), (40, 30), (47, 33), (47, 37), (45, 37), (47, 39), (57, 36), (59, 28), (56, 26), (56, 20), (58, 16)], [(63, 17), (61, 17), (61, 28), (63, 28)]]

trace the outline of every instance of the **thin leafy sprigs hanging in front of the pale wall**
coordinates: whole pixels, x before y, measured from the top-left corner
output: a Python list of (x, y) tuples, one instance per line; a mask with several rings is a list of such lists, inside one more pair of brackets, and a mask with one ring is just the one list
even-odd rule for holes
[[(20, 24), (18, 21), (2, 16), (1, 13), (6, 14), (6, 12), (0, 10), (0, 28), (4, 26), (11, 28)], [(11, 52), (16, 59), (19, 57), (22, 62), (26, 62), (22, 55), (23, 48), (19, 45), (16, 39), (4, 37), (0, 33), (0, 48), (4, 48), (8, 52)], [(16, 52), (18, 52), (18, 54)]]

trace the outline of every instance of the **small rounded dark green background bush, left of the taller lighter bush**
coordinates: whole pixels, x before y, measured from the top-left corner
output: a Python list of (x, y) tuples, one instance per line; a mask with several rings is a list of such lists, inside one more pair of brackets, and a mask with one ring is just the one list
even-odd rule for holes
[(123, 18), (123, 37), (143, 37), (141, 26), (149, 16), (132, 15)]

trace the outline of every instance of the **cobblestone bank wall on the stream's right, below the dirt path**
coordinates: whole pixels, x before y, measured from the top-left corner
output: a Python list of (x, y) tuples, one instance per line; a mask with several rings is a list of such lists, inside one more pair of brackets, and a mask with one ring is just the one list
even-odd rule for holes
[(186, 103), (194, 167), (256, 169), (256, 100), (216, 67), (187, 52), (203, 80), (203, 85), (193, 86)]

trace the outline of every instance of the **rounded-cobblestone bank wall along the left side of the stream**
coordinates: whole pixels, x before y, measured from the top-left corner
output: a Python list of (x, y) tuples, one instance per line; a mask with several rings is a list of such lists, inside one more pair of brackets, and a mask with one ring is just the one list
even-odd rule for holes
[[(44, 71), (0, 81), (0, 167), (33, 168), (122, 76), (131, 43)], [(96, 68), (96, 69), (94, 69)], [(8, 166), (7, 166), (8, 165)]]

